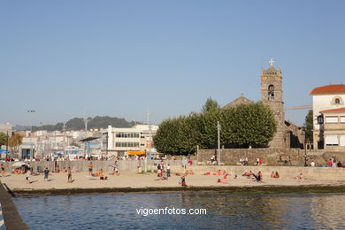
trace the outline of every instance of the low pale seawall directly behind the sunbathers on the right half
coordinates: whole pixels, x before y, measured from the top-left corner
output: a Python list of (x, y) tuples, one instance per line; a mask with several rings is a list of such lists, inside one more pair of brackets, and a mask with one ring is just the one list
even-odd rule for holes
[[(226, 171), (234, 177), (242, 176), (246, 171), (252, 171), (257, 173), (261, 171), (263, 173), (264, 180), (271, 176), (272, 171), (278, 172), (281, 179), (293, 179), (300, 173), (303, 173), (307, 180), (326, 180), (326, 181), (341, 181), (345, 180), (345, 168), (328, 168), (328, 167), (289, 167), (289, 166), (227, 166), (227, 165), (197, 165), (188, 166), (188, 170), (192, 170), (196, 174), (203, 174), (210, 172), (211, 174), (217, 173), (219, 170), (221, 173)], [(173, 173), (184, 173), (184, 169), (181, 166), (172, 166)]]

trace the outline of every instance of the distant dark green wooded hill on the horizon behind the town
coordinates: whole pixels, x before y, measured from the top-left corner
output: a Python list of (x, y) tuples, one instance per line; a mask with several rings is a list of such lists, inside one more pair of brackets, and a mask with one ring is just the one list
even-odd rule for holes
[[(140, 124), (140, 123), (137, 123)], [(113, 126), (113, 127), (131, 127), (134, 126), (135, 122), (131, 121), (128, 122), (126, 119), (119, 119), (119, 118), (111, 118), (108, 116), (105, 117), (100, 117), (96, 116), (95, 118), (88, 118), (88, 130), (90, 128), (106, 128), (108, 126)], [(48, 131), (54, 131), (54, 130), (63, 130), (64, 123), (59, 122), (56, 125), (44, 125), (44, 126), (33, 126), (33, 131), (36, 130), (48, 130)], [(66, 130), (80, 130), (80, 129), (85, 129), (85, 123), (84, 119), (82, 118), (74, 118), (70, 119), (66, 122), (65, 124)], [(29, 130), (26, 129), (26, 130)]]

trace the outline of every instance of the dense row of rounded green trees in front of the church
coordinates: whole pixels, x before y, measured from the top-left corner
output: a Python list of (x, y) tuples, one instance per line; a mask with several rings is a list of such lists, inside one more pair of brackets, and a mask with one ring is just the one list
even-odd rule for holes
[(273, 112), (264, 103), (221, 109), (219, 103), (209, 98), (199, 113), (165, 119), (154, 136), (156, 149), (173, 155), (193, 153), (197, 145), (202, 149), (215, 149), (218, 121), (220, 142), (226, 148), (265, 146), (277, 129)]

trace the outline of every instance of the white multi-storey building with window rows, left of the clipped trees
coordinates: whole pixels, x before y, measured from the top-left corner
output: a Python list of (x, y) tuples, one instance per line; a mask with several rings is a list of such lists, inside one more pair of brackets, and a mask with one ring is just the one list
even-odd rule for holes
[(127, 151), (145, 150), (146, 155), (156, 153), (152, 137), (158, 126), (136, 125), (133, 127), (111, 127), (103, 130), (103, 153), (108, 156), (124, 157)]

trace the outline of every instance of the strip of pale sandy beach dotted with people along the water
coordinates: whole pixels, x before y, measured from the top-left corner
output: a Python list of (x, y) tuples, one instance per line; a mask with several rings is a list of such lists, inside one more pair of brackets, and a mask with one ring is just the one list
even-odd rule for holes
[[(44, 181), (43, 175), (32, 176), (31, 183), (26, 183), (25, 175), (7, 174), (6, 177), (1, 178), (1, 182), (11, 190), (13, 194), (42, 194), (42, 191), (50, 191), (49, 194), (65, 194), (67, 191), (74, 191), (79, 193), (78, 189), (90, 192), (104, 192), (104, 191), (122, 191), (117, 188), (126, 188), (123, 191), (144, 191), (147, 188), (155, 188), (153, 190), (159, 191), (159, 188), (170, 190), (174, 188), (181, 188), (179, 184), (179, 176), (172, 174), (169, 180), (159, 180), (156, 173), (134, 173), (123, 172), (119, 176), (107, 175), (108, 180), (99, 180), (99, 177), (89, 176), (88, 173), (73, 173), (73, 183), (67, 183), (66, 173), (50, 173), (49, 180)], [(218, 182), (220, 180), (221, 182)], [(299, 188), (305, 187), (345, 187), (345, 181), (327, 181), (327, 180), (296, 180), (294, 178), (280, 178), (273, 179), (264, 177), (263, 183), (253, 181), (238, 175), (234, 179), (234, 175), (228, 176), (224, 179), (221, 175), (188, 175), (186, 178), (188, 188), (283, 188), (294, 187), (295, 192), (299, 192)], [(105, 189), (110, 188), (110, 189)], [(104, 190), (105, 189), (105, 190)], [(112, 189), (112, 190), (111, 190)], [(132, 190), (131, 190), (132, 189)], [(167, 190), (169, 190), (167, 189)], [(202, 190), (202, 189), (201, 189)], [(64, 192), (58, 192), (64, 191)]]

